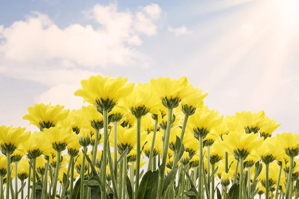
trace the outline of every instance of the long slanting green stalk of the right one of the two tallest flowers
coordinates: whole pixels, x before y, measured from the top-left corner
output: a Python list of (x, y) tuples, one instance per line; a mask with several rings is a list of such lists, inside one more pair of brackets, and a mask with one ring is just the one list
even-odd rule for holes
[(163, 146), (163, 153), (162, 153), (161, 169), (159, 171), (157, 199), (162, 198), (163, 183), (164, 183), (164, 176), (165, 176), (164, 172), (165, 172), (165, 167), (166, 167), (167, 152), (168, 152), (169, 137), (170, 137), (170, 129), (171, 129), (171, 120), (172, 120), (172, 108), (168, 108), (167, 114), (168, 114), (167, 126), (166, 126), (166, 133), (165, 133), (165, 137), (164, 137), (164, 146)]

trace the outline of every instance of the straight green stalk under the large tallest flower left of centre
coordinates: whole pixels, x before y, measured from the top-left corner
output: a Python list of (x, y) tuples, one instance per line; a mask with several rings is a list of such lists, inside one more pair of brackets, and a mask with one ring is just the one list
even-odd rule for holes
[(103, 146), (103, 162), (102, 162), (102, 189), (101, 189), (101, 198), (105, 199), (106, 198), (106, 165), (107, 165), (107, 148), (108, 146), (108, 140), (109, 140), (109, 135), (108, 135), (108, 110), (104, 109), (103, 110), (103, 119), (104, 119), (104, 146)]

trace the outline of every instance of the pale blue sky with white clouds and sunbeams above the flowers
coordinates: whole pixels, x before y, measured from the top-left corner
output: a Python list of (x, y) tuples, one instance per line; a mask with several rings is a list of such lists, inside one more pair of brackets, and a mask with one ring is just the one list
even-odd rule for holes
[(265, 110), (299, 133), (297, 0), (0, 0), (0, 125), (80, 108), (91, 75), (187, 76), (220, 114)]

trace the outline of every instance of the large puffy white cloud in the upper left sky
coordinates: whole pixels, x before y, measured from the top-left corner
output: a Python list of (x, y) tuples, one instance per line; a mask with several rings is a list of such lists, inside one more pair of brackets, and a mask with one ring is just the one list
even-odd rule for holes
[[(88, 15), (99, 23), (58, 27), (47, 15), (34, 12), (9, 27), (0, 26), (0, 56), (21, 64), (48, 64), (62, 61), (87, 67), (141, 65), (147, 57), (134, 48), (140, 34), (154, 35), (161, 9), (157, 4), (137, 13), (118, 11), (116, 4), (96, 4)], [(2, 59), (2, 60), (3, 60)]]

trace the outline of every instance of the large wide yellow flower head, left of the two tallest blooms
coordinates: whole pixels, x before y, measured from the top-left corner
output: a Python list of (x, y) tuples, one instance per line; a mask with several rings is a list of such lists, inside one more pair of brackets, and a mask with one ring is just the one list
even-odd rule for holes
[(75, 96), (83, 97), (84, 101), (96, 105), (98, 108), (102, 107), (109, 101), (111, 105), (105, 108), (111, 110), (113, 106), (121, 99), (130, 95), (134, 89), (134, 83), (126, 85), (128, 79), (111, 79), (110, 76), (102, 77), (91, 76), (88, 80), (82, 80), (82, 89), (75, 92)]

